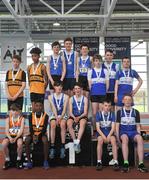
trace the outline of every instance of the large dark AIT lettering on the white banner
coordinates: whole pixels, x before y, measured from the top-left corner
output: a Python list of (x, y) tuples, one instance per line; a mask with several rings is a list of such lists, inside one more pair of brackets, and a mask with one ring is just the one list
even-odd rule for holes
[(11, 62), (12, 57), (14, 55), (22, 56), (23, 51), (24, 51), (24, 48), (19, 49), (19, 48), (15, 47), (15, 46), (14, 47), (8, 46), (7, 50), (6, 50), (6, 53), (4, 54), (4, 57), (3, 57), (4, 63)]

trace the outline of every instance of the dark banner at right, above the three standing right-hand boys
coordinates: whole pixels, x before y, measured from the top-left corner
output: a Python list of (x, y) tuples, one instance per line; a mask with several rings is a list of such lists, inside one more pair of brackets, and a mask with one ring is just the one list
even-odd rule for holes
[(127, 56), (131, 58), (131, 38), (130, 37), (105, 37), (105, 50), (111, 49), (114, 59), (122, 59)]

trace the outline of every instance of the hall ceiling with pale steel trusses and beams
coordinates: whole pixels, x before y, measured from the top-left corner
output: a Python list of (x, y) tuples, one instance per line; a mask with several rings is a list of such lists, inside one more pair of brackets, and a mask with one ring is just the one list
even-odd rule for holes
[[(60, 26), (54, 27), (54, 22)], [(149, 39), (149, 0), (0, 0), (0, 36)]]

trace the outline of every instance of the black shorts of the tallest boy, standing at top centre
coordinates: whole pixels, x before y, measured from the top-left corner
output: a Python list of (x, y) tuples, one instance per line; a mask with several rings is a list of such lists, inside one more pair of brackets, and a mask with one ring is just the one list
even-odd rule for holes
[(63, 82), (64, 85), (63, 90), (64, 91), (73, 90), (75, 83), (76, 83), (75, 78), (65, 78)]

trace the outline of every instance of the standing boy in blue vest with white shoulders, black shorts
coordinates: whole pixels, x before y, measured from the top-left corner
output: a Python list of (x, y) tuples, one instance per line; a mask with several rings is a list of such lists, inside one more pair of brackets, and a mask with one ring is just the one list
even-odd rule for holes
[(102, 68), (102, 57), (94, 55), (93, 68), (88, 71), (88, 83), (90, 89), (90, 99), (92, 104), (92, 124), (93, 130), (96, 129), (96, 113), (102, 111), (102, 103), (106, 98), (107, 90), (109, 89), (109, 74), (108, 71)]

